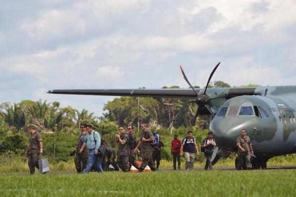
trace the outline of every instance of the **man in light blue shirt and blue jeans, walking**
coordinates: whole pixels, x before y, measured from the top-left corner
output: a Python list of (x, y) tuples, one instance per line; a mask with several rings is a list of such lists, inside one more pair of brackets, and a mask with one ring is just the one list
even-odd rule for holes
[(88, 134), (82, 137), (82, 141), (86, 142), (86, 147), (89, 150), (89, 158), (86, 168), (83, 169), (83, 173), (87, 173), (91, 170), (93, 164), (95, 164), (98, 172), (103, 172), (102, 165), (98, 157), (98, 150), (101, 145), (101, 136), (97, 131), (93, 130), (92, 125), (87, 125), (86, 131)]

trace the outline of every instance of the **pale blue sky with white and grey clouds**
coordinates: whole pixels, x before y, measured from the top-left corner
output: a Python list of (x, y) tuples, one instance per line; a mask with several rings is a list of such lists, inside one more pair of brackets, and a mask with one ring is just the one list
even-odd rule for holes
[(101, 116), (114, 97), (53, 89), (296, 85), (296, 0), (0, 0), (0, 103)]

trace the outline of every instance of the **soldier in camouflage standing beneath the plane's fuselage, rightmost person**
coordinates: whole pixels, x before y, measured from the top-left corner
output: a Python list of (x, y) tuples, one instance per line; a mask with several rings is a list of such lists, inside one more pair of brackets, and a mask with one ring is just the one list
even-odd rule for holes
[[(254, 155), (251, 139), (247, 136), (247, 131), (242, 130), (241, 136), (236, 139), (237, 145), (237, 169), (252, 169), (251, 154)], [(245, 166), (243, 164), (245, 163)]]

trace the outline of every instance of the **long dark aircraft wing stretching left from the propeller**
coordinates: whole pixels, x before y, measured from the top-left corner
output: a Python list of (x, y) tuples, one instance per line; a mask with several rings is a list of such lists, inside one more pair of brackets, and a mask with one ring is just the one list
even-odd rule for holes
[[(199, 93), (203, 89), (194, 89)], [(49, 94), (64, 95), (101, 95), (152, 98), (184, 98), (194, 99), (196, 94), (192, 89), (97, 89), (97, 90), (50, 90)]]

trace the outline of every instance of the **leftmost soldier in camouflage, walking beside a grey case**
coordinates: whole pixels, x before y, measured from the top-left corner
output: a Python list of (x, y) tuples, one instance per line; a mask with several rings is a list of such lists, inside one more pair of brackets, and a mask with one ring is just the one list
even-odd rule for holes
[(28, 165), (30, 168), (30, 173), (34, 174), (35, 167), (39, 169), (39, 154), (43, 154), (42, 150), (42, 137), (40, 133), (35, 131), (34, 126), (29, 127), (29, 132), (31, 133), (31, 136), (29, 138), (29, 144), (27, 146), (27, 149), (25, 151), (25, 157), (28, 157)]

